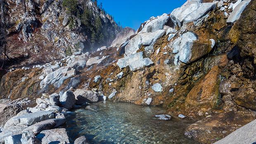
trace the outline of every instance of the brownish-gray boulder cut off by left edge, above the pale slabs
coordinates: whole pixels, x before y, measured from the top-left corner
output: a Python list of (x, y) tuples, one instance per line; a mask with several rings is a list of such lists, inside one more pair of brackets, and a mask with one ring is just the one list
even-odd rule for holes
[(0, 127), (4, 126), (10, 118), (16, 116), (20, 111), (22, 108), (19, 105), (0, 103)]

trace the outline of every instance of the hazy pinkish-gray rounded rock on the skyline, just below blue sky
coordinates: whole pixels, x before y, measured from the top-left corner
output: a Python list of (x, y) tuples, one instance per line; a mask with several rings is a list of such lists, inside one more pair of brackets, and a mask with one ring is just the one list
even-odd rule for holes
[(131, 35), (135, 34), (135, 30), (130, 27), (125, 27), (116, 35), (116, 39), (111, 43), (111, 46), (119, 47), (123, 42), (127, 41)]

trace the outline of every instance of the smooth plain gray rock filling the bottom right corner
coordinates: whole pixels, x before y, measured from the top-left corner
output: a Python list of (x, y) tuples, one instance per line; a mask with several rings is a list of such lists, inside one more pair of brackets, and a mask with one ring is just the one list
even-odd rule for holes
[(256, 142), (256, 120), (238, 128), (214, 144), (254, 144)]

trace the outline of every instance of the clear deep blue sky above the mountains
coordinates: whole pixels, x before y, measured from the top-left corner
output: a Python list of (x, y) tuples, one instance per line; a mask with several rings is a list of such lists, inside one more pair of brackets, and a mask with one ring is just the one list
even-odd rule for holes
[(137, 30), (140, 24), (151, 16), (169, 14), (173, 9), (180, 7), (186, 0), (98, 0), (102, 2), (107, 13), (114, 16), (123, 27), (132, 27)]

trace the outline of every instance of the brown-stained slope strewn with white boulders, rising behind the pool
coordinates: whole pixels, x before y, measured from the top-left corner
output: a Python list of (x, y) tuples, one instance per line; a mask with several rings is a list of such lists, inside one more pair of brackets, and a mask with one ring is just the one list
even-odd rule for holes
[(214, 143), (256, 119), (255, 16), (255, 0), (188, 0), (124, 30), (118, 45), (8, 72), (0, 98), (32, 113), (105, 99), (161, 105), (198, 120), (188, 138)]

